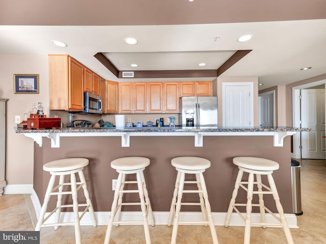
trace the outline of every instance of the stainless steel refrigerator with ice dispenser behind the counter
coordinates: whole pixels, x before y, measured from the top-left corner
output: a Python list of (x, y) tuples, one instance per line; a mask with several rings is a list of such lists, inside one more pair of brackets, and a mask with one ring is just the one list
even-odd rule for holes
[(218, 97), (180, 98), (179, 124), (182, 127), (218, 126)]

